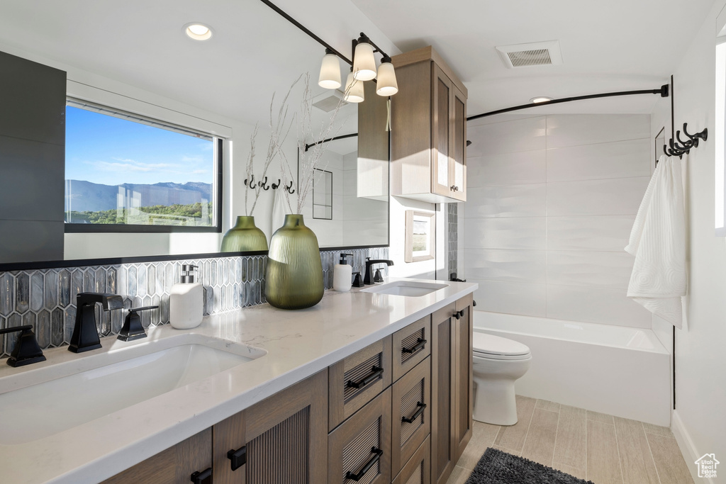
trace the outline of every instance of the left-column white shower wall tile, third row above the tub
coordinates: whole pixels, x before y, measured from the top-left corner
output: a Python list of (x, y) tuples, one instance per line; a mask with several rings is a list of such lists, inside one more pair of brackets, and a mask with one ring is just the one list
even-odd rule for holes
[(546, 234), (544, 217), (468, 218), (464, 247), (544, 250)]

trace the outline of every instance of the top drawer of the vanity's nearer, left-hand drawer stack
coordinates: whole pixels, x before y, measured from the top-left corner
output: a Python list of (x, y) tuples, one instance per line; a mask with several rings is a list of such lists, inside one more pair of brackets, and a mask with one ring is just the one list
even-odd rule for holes
[(391, 336), (330, 366), (328, 430), (391, 385)]

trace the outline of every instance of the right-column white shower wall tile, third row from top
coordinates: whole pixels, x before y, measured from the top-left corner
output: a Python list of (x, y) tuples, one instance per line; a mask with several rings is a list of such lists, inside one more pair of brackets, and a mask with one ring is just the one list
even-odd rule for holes
[(547, 216), (635, 215), (650, 177), (547, 184)]

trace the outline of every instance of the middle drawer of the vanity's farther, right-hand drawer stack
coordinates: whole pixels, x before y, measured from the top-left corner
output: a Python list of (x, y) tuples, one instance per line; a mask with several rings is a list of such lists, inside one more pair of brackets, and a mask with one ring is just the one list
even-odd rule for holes
[(399, 473), (431, 432), (431, 358), (391, 388), (391, 472)]

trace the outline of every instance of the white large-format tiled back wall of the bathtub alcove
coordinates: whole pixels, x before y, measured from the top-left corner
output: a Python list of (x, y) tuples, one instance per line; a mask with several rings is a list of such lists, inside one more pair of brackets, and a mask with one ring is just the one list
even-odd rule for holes
[(468, 139), (460, 277), (478, 282), (478, 309), (650, 328), (623, 250), (650, 180), (650, 116), (481, 120)]

